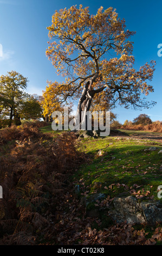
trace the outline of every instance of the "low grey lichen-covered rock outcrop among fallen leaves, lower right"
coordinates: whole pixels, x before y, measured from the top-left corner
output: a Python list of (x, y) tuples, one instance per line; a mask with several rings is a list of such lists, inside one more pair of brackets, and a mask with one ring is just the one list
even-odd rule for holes
[(126, 222), (151, 226), (162, 223), (162, 204), (160, 201), (153, 201), (152, 199), (140, 201), (132, 196), (116, 197), (106, 208), (100, 209), (99, 205), (95, 207), (95, 202), (103, 200), (105, 196), (106, 194), (96, 193), (89, 197), (83, 197), (87, 216), (99, 217), (102, 211), (106, 211), (107, 216), (117, 223)]

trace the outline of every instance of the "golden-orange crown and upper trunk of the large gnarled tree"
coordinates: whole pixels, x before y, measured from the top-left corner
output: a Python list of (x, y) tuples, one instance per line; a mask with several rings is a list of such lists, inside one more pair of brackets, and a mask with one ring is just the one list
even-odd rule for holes
[[(118, 102), (128, 108), (148, 108), (145, 96), (153, 92), (151, 81), (154, 65), (146, 63), (139, 71), (133, 68), (132, 42), (134, 32), (126, 30), (112, 7), (90, 15), (88, 7), (55, 11), (49, 30), (47, 56), (57, 70), (66, 76), (62, 83), (53, 85), (53, 97), (59, 102), (79, 100), (77, 114), (89, 111), (92, 101), (106, 101), (109, 107)], [(109, 58), (114, 56), (113, 58)]]

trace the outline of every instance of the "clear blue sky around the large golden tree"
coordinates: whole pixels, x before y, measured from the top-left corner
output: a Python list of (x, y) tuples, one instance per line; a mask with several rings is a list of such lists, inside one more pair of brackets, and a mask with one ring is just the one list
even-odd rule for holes
[(161, 0), (0, 0), (0, 44), (3, 46), (0, 75), (11, 70), (20, 72), (28, 77), (27, 92), (38, 95), (42, 95), (42, 90), (46, 89), (47, 80), (61, 81), (62, 78), (56, 75), (46, 57), (49, 40), (47, 27), (51, 25), (51, 16), (55, 10), (70, 8), (72, 5), (79, 7), (80, 4), (88, 6), (91, 14), (96, 14), (101, 5), (104, 9), (113, 7), (119, 17), (125, 19), (127, 29), (136, 31), (132, 38), (135, 69), (138, 70), (152, 59), (157, 62), (151, 82), (154, 93), (147, 97), (147, 100), (157, 101), (157, 105), (142, 111), (117, 107), (113, 110), (117, 119), (124, 123), (126, 119), (133, 120), (140, 113), (145, 113), (153, 121), (162, 121), (162, 57), (157, 54), (158, 44), (162, 44)]

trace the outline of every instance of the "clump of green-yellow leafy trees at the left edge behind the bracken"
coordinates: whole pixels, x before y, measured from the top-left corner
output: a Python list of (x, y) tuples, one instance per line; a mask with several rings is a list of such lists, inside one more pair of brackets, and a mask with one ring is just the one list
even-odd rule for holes
[[(36, 119), (42, 115), (42, 108), (35, 95), (25, 92), (28, 78), (16, 71), (0, 77), (0, 119), (11, 126), (20, 125), (20, 119)], [(2, 122), (1, 122), (2, 123)]]

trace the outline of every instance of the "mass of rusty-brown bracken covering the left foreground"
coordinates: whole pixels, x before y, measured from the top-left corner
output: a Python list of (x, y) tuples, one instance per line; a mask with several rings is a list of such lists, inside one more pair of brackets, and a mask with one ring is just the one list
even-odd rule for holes
[(17, 141), (0, 156), (0, 245), (35, 245), (82, 156), (73, 132), (53, 139), (37, 127), (11, 126), (1, 131), (3, 137)]

